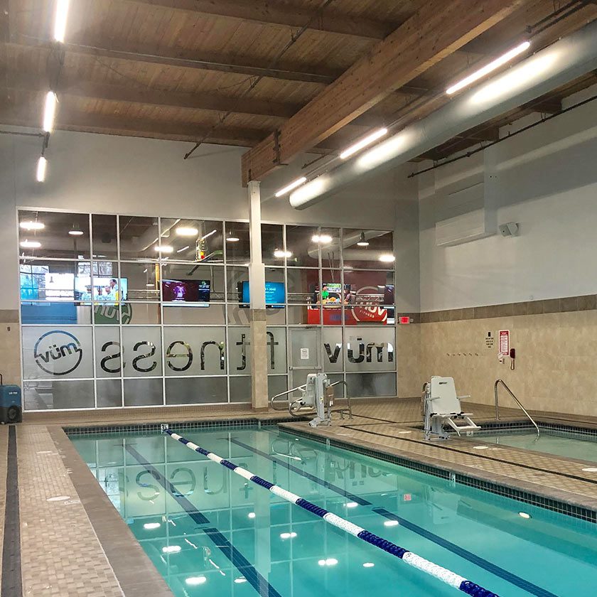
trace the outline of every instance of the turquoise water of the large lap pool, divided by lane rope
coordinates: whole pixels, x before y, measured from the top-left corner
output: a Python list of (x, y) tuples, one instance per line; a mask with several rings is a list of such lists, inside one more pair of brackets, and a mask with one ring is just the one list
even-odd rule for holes
[[(594, 592), (588, 522), (276, 428), (183, 435), (502, 597)], [(71, 439), (176, 597), (463, 594), (169, 436)]]

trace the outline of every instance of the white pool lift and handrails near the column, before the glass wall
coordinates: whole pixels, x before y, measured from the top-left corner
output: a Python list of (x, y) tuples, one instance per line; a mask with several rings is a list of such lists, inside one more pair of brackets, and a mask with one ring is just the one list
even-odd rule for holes
[[(343, 384), (345, 389), (345, 398), (348, 402), (346, 407), (333, 409), (334, 405), (334, 387), (338, 384)], [(301, 392), (298, 398), (291, 397), (294, 392)], [(288, 412), (292, 416), (306, 416), (314, 414), (315, 416), (309, 425), (317, 427), (318, 425), (330, 425), (332, 422), (332, 413), (338, 412), (340, 419), (344, 419), (348, 415), (350, 419), (353, 418), (353, 409), (350, 407), (350, 398), (348, 397), (348, 385), (344, 381), (330, 382), (329, 377), (325, 373), (309, 373), (307, 375), (307, 382), (288, 392), (281, 392), (271, 398), (270, 405), (274, 410), (284, 410), (277, 407), (276, 400), (287, 396)]]

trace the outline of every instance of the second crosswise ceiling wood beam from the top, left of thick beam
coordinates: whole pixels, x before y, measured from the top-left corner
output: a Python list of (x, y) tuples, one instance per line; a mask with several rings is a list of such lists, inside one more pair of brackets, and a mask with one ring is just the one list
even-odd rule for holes
[[(18, 36), (18, 43), (14, 48), (23, 45), (35, 46), (50, 50), (50, 41), (36, 43), (28, 40), (25, 36)], [(143, 44), (118, 43), (110, 41), (109, 48), (101, 41), (93, 43), (87, 40), (84, 43), (66, 43), (65, 49), (69, 53), (88, 55), (95, 58), (107, 58), (118, 60), (131, 60), (139, 63), (170, 66), (175, 68), (195, 68), (198, 70), (212, 70), (215, 72), (228, 72), (234, 75), (247, 75), (249, 77), (270, 77), (286, 81), (301, 81), (308, 83), (321, 83), (329, 85), (339, 77), (342, 72), (336, 69), (319, 68), (310, 65), (284, 62), (279, 68), (266, 68), (264, 61), (247, 58), (231, 58), (224, 54), (201, 53), (189, 50), (176, 50), (160, 48)]]

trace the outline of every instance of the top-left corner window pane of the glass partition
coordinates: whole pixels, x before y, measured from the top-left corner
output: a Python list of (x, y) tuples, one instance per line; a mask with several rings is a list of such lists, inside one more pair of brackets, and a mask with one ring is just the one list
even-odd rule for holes
[(89, 259), (89, 215), (21, 210), (18, 242), (26, 257)]

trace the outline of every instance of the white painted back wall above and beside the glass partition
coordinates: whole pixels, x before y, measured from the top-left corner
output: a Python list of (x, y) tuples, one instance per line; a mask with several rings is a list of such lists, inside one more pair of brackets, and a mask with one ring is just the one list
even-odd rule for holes
[[(244, 148), (205, 145), (183, 160), (188, 144), (176, 141), (56, 131), (43, 184), (35, 181), (40, 149), (40, 139), (0, 135), (0, 309), (18, 308), (16, 207), (248, 220), (247, 190), (240, 182)], [(262, 197), (300, 176), (300, 167), (311, 159), (304, 156), (274, 173), (262, 185)], [(380, 230), (398, 225), (402, 233), (397, 235), (397, 268), (409, 280), (402, 294), (398, 292), (399, 308), (415, 311), (417, 197), (416, 183), (404, 183), (407, 171), (404, 166), (362, 181), (308, 210), (294, 210), (286, 198), (268, 200), (262, 205), (262, 219)], [(397, 206), (402, 206), (399, 218)]]

